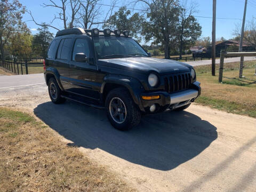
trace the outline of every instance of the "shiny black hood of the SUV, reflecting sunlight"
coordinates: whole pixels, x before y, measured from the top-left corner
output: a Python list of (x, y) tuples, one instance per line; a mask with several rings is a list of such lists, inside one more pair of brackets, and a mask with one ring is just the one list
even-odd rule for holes
[(114, 67), (118, 69), (139, 70), (143, 73), (156, 71), (159, 74), (182, 73), (190, 71), (191, 66), (179, 61), (169, 59), (156, 59), (150, 57), (129, 57), (117, 59), (101, 59), (101, 66)]

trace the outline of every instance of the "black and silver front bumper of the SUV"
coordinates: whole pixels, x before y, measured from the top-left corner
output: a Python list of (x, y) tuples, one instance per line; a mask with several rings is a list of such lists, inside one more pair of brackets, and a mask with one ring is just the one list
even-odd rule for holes
[(141, 103), (146, 112), (149, 112), (149, 108), (152, 105), (157, 106), (157, 110), (154, 111), (160, 112), (167, 108), (175, 109), (187, 105), (190, 102), (194, 102), (197, 97), (201, 94), (201, 87), (199, 82), (194, 82), (189, 90), (167, 93), (167, 92), (153, 92), (153, 93), (143, 93), (142, 96), (152, 96), (160, 95), (160, 98), (157, 100), (143, 100)]

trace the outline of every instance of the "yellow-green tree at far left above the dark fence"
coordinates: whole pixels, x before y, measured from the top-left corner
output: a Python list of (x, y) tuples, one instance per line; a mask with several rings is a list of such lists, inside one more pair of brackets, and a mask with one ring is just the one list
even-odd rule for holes
[(9, 50), (14, 56), (14, 59), (29, 58), (32, 50), (32, 39), (33, 36), (30, 31), (13, 33), (9, 39)]

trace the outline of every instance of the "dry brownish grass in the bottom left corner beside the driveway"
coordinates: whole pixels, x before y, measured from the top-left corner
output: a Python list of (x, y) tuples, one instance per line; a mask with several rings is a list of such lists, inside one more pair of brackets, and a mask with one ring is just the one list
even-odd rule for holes
[(60, 140), (50, 127), (0, 108), (1, 191), (135, 191)]

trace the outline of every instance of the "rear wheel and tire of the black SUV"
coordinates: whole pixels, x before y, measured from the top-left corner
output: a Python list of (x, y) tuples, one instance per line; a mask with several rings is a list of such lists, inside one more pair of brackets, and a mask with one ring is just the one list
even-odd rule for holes
[(50, 95), (50, 98), (53, 103), (60, 104), (66, 101), (65, 98), (62, 98), (61, 95), (61, 89), (56, 81), (55, 78), (51, 77), (48, 82), (48, 92)]

